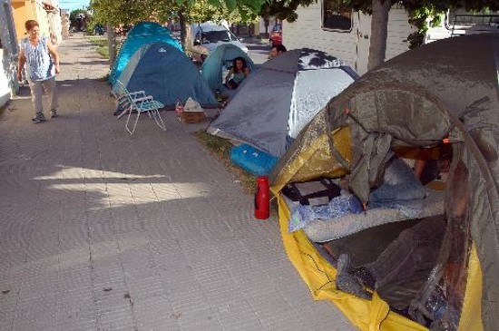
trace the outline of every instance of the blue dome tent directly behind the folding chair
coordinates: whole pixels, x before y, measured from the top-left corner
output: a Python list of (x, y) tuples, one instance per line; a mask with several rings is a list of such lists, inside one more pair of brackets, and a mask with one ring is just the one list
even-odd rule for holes
[(129, 91), (145, 91), (166, 109), (189, 97), (202, 107), (218, 106), (210, 87), (191, 59), (167, 43), (145, 44), (130, 59), (120, 77)]

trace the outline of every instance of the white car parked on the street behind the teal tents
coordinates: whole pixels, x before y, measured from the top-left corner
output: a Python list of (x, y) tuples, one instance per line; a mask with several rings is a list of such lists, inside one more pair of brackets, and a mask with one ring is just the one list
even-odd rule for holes
[(194, 41), (189, 56), (198, 62), (203, 62), (220, 44), (234, 44), (248, 54), (249, 50), (240, 42), (235, 34), (232, 34), (228, 25), (223, 23), (205, 22), (192, 24), (191, 33)]

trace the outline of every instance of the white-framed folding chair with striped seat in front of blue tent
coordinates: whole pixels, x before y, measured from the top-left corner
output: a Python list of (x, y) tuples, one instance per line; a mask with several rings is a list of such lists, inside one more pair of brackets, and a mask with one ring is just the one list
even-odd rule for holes
[[(129, 92), (120, 81), (116, 81), (113, 94), (123, 108), (123, 111), (118, 115), (118, 118), (122, 117), (125, 113), (128, 113), (125, 128), (130, 134), (133, 134), (137, 128), (141, 112), (147, 112), (149, 117), (158, 124), (161, 130), (166, 131), (166, 126), (160, 115), (160, 109), (163, 108), (164, 105), (161, 102), (154, 100), (151, 95), (146, 95), (144, 91)], [(129, 123), (132, 113), (134, 112), (137, 113), (137, 117), (135, 118), (131, 129)]]

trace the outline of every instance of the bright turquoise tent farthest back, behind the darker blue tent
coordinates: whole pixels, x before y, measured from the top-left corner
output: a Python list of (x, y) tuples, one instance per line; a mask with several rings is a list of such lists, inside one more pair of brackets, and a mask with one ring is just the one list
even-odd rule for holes
[(116, 57), (113, 69), (109, 75), (109, 82), (114, 85), (122, 70), (129, 62), (137, 50), (144, 44), (152, 44), (155, 42), (162, 42), (171, 44), (182, 51), (181, 43), (171, 37), (171, 31), (157, 23), (142, 22), (135, 25), (132, 30), (127, 34), (126, 41), (122, 44), (120, 53)]

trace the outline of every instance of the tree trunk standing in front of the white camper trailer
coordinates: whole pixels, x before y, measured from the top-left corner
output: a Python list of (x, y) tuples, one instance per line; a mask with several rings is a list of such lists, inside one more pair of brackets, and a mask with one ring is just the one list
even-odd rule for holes
[(367, 64), (368, 71), (385, 62), (390, 7), (390, 0), (373, 0), (371, 43), (369, 44), (369, 62)]

